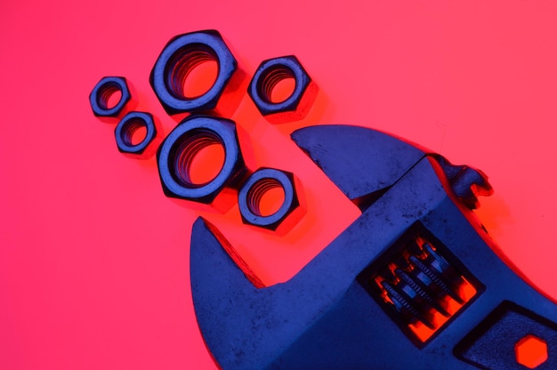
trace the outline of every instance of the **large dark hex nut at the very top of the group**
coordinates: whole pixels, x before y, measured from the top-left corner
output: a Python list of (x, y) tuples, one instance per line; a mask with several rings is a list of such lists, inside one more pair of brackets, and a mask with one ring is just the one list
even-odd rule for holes
[[(183, 84), (193, 68), (206, 60), (218, 64), (213, 86), (200, 96), (186, 96)], [(158, 56), (149, 81), (169, 115), (200, 113), (215, 109), (237, 72), (238, 63), (215, 30), (192, 32), (172, 38)]]

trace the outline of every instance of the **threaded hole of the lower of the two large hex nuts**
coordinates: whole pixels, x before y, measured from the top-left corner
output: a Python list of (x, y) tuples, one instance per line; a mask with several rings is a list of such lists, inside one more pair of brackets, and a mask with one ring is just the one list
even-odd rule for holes
[(200, 188), (222, 171), (226, 151), (214, 133), (202, 131), (177, 145), (171, 156), (173, 177), (187, 188)]

